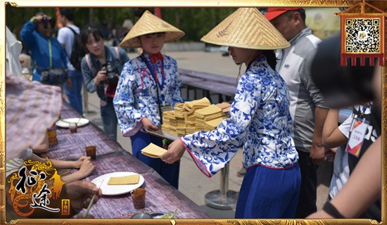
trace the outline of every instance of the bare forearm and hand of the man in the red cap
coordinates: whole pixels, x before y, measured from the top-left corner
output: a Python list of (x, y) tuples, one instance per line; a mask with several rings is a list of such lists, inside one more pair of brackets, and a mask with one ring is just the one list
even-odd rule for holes
[(325, 148), (322, 145), (322, 128), (328, 110), (324, 108), (315, 108), (315, 131), (313, 132), (312, 147), (310, 148), (310, 158), (315, 165), (322, 165), (325, 160)]

